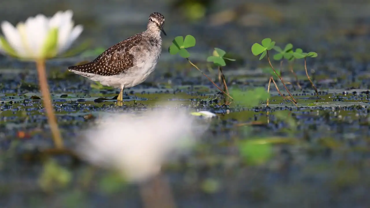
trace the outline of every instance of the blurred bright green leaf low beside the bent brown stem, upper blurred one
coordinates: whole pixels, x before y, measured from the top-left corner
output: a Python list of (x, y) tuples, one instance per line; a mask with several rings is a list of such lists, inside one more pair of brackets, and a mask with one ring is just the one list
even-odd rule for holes
[(245, 105), (246, 107), (255, 107), (262, 100), (270, 98), (270, 94), (264, 87), (257, 87), (253, 90), (241, 91), (239, 89), (231, 89), (230, 95), (235, 99), (235, 103)]

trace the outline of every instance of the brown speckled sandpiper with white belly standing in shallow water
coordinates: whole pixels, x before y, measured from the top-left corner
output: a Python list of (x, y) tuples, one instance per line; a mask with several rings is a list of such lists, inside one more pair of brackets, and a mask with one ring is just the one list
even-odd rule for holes
[(117, 100), (122, 101), (124, 88), (141, 84), (154, 71), (162, 51), (161, 31), (166, 35), (163, 26), (164, 16), (154, 12), (149, 16), (147, 30), (108, 48), (90, 63), (68, 70), (120, 88)]

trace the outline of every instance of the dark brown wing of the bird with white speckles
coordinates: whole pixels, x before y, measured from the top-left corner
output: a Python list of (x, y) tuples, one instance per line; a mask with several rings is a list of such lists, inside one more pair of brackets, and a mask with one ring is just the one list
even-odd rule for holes
[(102, 76), (125, 74), (129, 68), (134, 66), (134, 56), (129, 53), (129, 50), (137, 46), (140, 39), (141, 34), (127, 38), (105, 50), (90, 63), (71, 66), (68, 69)]

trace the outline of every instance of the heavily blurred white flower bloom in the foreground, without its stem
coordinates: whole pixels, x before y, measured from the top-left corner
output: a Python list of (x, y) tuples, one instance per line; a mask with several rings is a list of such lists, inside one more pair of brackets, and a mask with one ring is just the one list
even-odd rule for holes
[(128, 181), (143, 181), (194, 145), (207, 128), (194, 121), (180, 110), (114, 114), (84, 132), (77, 152), (92, 164), (121, 171)]

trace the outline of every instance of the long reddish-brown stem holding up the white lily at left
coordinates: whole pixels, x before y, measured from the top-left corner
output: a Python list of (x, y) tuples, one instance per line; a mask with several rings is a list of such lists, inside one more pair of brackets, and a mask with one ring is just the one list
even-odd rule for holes
[(44, 108), (46, 110), (46, 116), (48, 123), (53, 134), (53, 140), (55, 148), (63, 149), (63, 140), (60, 135), (57, 120), (55, 118), (54, 109), (51, 105), (51, 97), (49, 92), (49, 86), (47, 84), (47, 76), (45, 70), (45, 60), (36, 60), (36, 68), (38, 74), (38, 83), (40, 85), (41, 95), (43, 97)]

